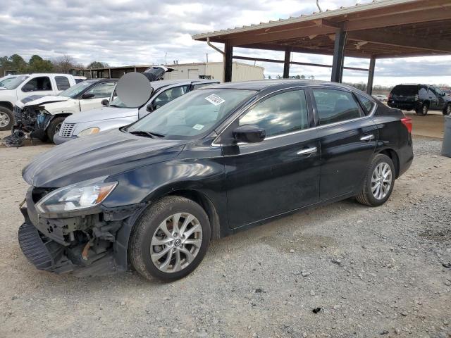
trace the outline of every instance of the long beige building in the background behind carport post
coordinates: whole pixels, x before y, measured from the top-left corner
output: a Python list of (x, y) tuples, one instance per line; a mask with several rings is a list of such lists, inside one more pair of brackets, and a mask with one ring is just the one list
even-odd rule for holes
[[(224, 67), (222, 62), (180, 63), (167, 65), (174, 68), (164, 75), (164, 80), (170, 79), (210, 79), (223, 80)], [(264, 68), (258, 65), (233, 62), (232, 81), (263, 80)]]

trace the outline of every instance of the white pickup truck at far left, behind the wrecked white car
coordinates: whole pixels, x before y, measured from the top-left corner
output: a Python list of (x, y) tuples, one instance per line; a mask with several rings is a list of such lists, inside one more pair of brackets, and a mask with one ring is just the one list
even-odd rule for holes
[(0, 89), (0, 130), (11, 130), (14, 123), (13, 107), (16, 101), (32, 95), (57, 95), (85, 79), (85, 77), (74, 77), (69, 74), (18, 75)]

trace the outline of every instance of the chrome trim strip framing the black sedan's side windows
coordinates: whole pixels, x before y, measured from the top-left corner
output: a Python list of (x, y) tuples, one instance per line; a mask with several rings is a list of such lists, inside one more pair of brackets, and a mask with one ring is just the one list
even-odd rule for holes
[[(264, 95), (264, 96), (261, 96), (261, 98), (258, 99), (257, 101), (251, 102), (250, 104), (247, 104), (245, 107), (243, 107), (242, 110), (241, 110), (241, 112), (240, 112), (240, 114), (237, 115), (236, 118), (234, 118), (230, 123), (228, 123), (228, 125), (226, 125), (226, 127), (221, 128), (221, 129), (222, 129), (221, 132), (218, 132), (218, 136), (213, 140), (213, 142), (211, 142), (211, 146), (216, 146), (216, 147), (217, 147), (217, 146), (221, 146), (220, 143), (216, 143), (216, 140), (218, 140), (218, 139), (221, 137), (221, 134), (224, 132), (224, 130), (226, 130), (228, 127), (230, 127), (230, 125), (231, 125), (232, 123), (234, 123), (235, 120), (237, 120), (237, 118), (240, 118), (240, 116), (242, 115), (242, 113), (245, 113), (245, 112), (247, 111), (247, 109), (249, 109), (253, 104), (258, 104), (261, 100), (265, 99), (267, 96), (270, 96), (270, 95), (275, 94), (275, 93), (277, 93), (277, 92), (282, 92), (282, 91), (287, 90), (287, 89), (302, 89), (302, 90), (305, 90), (306, 88), (307, 88), (307, 89), (319, 89), (319, 88), (323, 88), (323, 87), (330, 87), (330, 88), (327, 88), (327, 89), (338, 89), (338, 90), (343, 90), (343, 91), (345, 91), (345, 92), (351, 92), (351, 93), (354, 93), (354, 91), (353, 91), (352, 89), (342, 88), (342, 87), (336, 87), (336, 86), (334, 86), (333, 84), (332, 84), (332, 85), (326, 85), (326, 86), (323, 85), (323, 84), (322, 84), (322, 85), (321, 85), (321, 84), (316, 84), (316, 85), (302, 85), (302, 86), (295, 86), (295, 87), (287, 87), (287, 88), (283, 88), (283, 89), (278, 89), (278, 90), (276, 90), (275, 92), (271, 92), (271, 93), (268, 93), (268, 94), (266, 94), (266, 95)], [(366, 94), (366, 93), (365, 93), (365, 94)], [(318, 130), (318, 129), (322, 129), (322, 128), (324, 128), (324, 127), (330, 127), (330, 126), (335, 126), (335, 125), (342, 125), (342, 124), (344, 124), (344, 123), (350, 123), (350, 122), (354, 122), (354, 121), (357, 121), (357, 120), (362, 120), (362, 119), (364, 119), (364, 118), (372, 118), (373, 115), (374, 115), (374, 113), (376, 113), (378, 104), (377, 104), (377, 102), (374, 101), (374, 99), (373, 99), (372, 97), (370, 97), (369, 95), (366, 94), (366, 97), (367, 97), (368, 99), (371, 99), (371, 101), (373, 101), (373, 103), (374, 103), (373, 109), (371, 110), (371, 112), (370, 112), (368, 115), (361, 116), (360, 118), (352, 118), (351, 120), (345, 120), (345, 121), (340, 121), (340, 122), (330, 123), (330, 124), (328, 124), (328, 125), (316, 125), (315, 127), (309, 127), (309, 128), (307, 128), (307, 129), (297, 130), (296, 132), (287, 132), (287, 133), (285, 133), (285, 134), (274, 135), (274, 136), (270, 136), (270, 137), (267, 137), (267, 138), (265, 137), (265, 139), (264, 139), (263, 141), (259, 142), (259, 143), (261, 144), (261, 143), (265, 142), (267, 139), (270, 139), (270, 140), (271, 140), (271, 139), (276, 139), (276, 138), (279, 138), (279, 137), (291, 136), (291, 135), (293, 135), (293, 134), (299, 134), (300, 132), (306, 132), (307, 130)], [(359, 104), (359, 103), (357, 102), (357, 104)], [(250, 144), (250, 143), (247, 143), (247, 142), (238, 142), (238, 143), (235, 144), (235, 145), (240, 146), (240, 145), (243, 145), (243, 144)]]

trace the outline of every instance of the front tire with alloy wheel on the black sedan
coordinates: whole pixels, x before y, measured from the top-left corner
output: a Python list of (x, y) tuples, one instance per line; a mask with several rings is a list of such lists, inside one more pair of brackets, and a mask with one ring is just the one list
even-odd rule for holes
[[(173, 221), (177, 215), (180, 217), (179, 229), (175, 230)], [(195, 231), (185, 238), (183, 223), (188, 215), (194, 220), (185, 226), (185, 234)], [(199, 204), (181, 196), (166, 196), (149, 206), (135, 223), (128, 249), (130, 261), (137, 272), (149, 280), (153, 277), (164, 281), (178, 280), (192, 273), (202, 261), (209, 247), (210, 233), (209, 218)], [(187, 240), (197, 244), (185, 244)], [(166, 253), (161, 255), (163, 251)], [(190, 256), (185, 253), (187, 251)]]

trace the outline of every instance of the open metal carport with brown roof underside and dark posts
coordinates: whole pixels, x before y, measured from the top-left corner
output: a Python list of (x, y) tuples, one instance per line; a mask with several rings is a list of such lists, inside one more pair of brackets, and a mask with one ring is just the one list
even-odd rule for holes
[[(284, 78), (289, 77), (290, 64), (330, 67), (333, 82), (342, 81), (345, 56), (369, 58), (369, 69), (348, 69), (368, 71), (367, 91), (371, 94), (376, 59), (451, 54), (451, 1), (373, 1), (192, 38), (224, 44), (224, 51), (210, 45), (224, 56), (225, 82), (232, 78), (233, 58), (283, 63)], [(285, 51), (285, 59), (237, 56), (233, 47)], [(293, 62), (292, 52), (332, 55), (333, 64)]]

